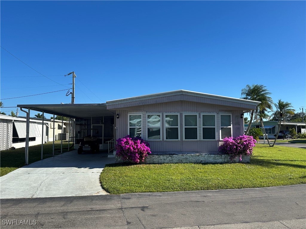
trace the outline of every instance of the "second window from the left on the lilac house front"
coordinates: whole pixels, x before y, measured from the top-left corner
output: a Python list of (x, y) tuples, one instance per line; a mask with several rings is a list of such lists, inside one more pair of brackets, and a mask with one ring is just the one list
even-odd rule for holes
[(147, 140), (161, 140), (161, 114), (147, 114)]

